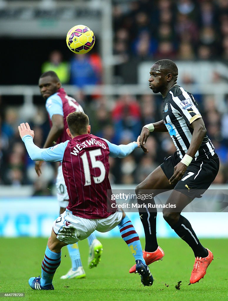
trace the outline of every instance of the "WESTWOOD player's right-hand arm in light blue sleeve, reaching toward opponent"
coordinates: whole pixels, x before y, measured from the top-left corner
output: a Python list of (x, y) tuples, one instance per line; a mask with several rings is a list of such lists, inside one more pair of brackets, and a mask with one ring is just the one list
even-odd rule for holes
[(137, 141), (134, 141), (134, 142), (131, 142), (128, 144), (120, 144), (120, 145), (113, 144), (106, 139), (103, 139), (103, 140), (105, 140), (108, 143), (110, 157), (124, 158), (124, 157), (130, 155), (134, 149), (136, 149), (137, 147), (140, 146), (139, 138), (140, 138), (140, 136), (137, 138)]

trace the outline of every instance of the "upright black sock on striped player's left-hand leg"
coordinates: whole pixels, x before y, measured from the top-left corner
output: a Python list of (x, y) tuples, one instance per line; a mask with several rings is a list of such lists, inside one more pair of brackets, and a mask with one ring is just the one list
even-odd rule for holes
[[(155, 209), (156, 210), (156, 209)], [(157, 235), (156, 235), (156, 212), (139, 212), (139, 216), (145, 232), (145, 251), (154, 252), (158, 249)]]

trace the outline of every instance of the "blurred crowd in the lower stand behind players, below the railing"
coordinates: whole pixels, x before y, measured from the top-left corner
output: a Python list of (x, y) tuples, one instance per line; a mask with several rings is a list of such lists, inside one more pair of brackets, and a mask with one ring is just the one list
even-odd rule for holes
[[(116, 97), (73, 95), (89, 115), (92, 133), (115, 144), (136, 141), (142, 126), (162, 119), (162, 97), (152, 92), (148, 95), (120, 95)], [(217, 110), (212, 95), (195, 95), (202, 112), (207, 134), (220, 158), (220, 172), (215, 183), (228, 183), (228, 112)], [(228, 95), (226, 96), (228, 107)], [(24, 120), (23, 108), (1, 104), (0, 122), (0, 184), (20, 186), (34, 185), (34, 195), (49, 195), (48, 189), (55, 183), (54, 163), (42, 165), (42, 176), (38, 178), (34, 162), (29, 158), (20, 139), (17, 126), (28, 121), (35, 132), (34, 143), (42, 147), (49, 131), (45, 106), (36, 106), (30, 118)], [(175, 152), (168, 133), (153, 133), (147, 140), (148, 154), (136, 149), (124, 159), (110, 157), (110, 181), (115, 184), (137, 184), (144, 180), (165, 157)]]

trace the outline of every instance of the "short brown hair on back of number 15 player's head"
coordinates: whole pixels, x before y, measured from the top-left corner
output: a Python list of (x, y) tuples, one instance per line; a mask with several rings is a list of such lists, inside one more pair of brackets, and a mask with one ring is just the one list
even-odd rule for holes
[(89, 117), (83, 112), (72, 112), (67, 116), (67, 124), (72, 135), (87, 134)]

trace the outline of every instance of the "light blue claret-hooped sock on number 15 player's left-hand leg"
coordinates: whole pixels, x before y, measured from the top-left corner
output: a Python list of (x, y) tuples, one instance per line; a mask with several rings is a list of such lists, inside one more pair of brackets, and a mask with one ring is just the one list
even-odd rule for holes
[(52, 284), (52, 279), (55, 275), (55, 271), (61, 262), (61, 252), (54, 253), (48, 246), (46, 247), (44, 260), (42, 261), (41, 269), (41, 286)]

